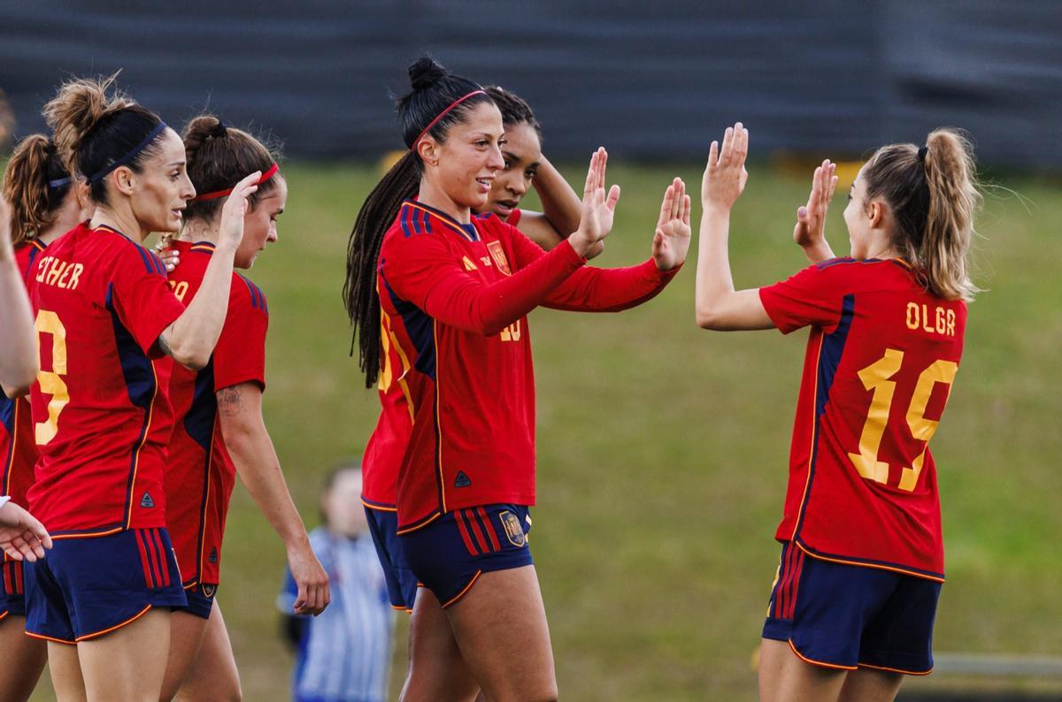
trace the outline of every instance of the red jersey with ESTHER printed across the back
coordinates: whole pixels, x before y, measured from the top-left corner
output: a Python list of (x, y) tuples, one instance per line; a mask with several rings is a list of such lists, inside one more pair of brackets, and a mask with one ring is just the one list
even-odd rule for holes
[(171, 363), (156, 340), (184, 305), (162, 262), (79, 225), (37, 257), (29, 289), (40, 346), (31, 511), (59, 538), (165, 526)]

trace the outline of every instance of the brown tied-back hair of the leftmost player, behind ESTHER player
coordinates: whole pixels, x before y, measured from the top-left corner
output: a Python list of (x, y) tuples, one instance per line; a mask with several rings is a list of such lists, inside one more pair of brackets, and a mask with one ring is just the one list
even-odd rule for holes
[(39, 236), (54, 224), (70, 188), (70, 174), (52, 140), (42, 134), (22, 139), (3, 174), (3, 198), (11, 205), (12, 243), (17, 246)]

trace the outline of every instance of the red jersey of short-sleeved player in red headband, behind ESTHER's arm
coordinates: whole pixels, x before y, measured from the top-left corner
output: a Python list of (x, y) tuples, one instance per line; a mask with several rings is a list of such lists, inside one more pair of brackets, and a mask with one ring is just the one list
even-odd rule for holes
[[(181, 265), (170, 274), (177, 298), (199, 293), (215, 246), (174, 242)], [(257, 285), (233, 274), (225, 326), (210, 363), (199, 372), (176, 366), (170, 380), (174, 427), (166, 463), (166, 524), (186, 587), (221, 580), (221, 542), (236, 467), (225, 449), (217, 392), (240, 383), (266, 387), (269, 310)]]

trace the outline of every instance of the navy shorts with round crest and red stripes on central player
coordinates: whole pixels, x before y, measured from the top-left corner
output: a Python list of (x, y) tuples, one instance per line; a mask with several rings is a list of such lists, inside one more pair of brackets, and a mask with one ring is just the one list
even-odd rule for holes
[(526, 506), (483, 505), (446, 512), (401, 534), (401, 543), (413, 573), (445, 609), (483, 573), (532, 565), (530, 531)]

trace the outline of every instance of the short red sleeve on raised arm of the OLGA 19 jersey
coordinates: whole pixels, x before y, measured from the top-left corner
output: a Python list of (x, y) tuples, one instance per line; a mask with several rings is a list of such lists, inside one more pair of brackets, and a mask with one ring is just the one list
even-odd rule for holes
[(829, 332), (841, 318), (844, 261), (834, 259), (808, 266), (787, 280), (759, 288), (767, 315), (783, 334), (802, 327)]

